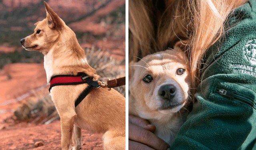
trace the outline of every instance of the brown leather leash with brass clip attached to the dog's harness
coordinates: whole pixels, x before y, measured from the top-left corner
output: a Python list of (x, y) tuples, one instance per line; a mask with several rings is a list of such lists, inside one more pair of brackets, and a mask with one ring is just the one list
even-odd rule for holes
[(98, 84), (100, 85), (100, 87), (108, 88), (108, 90), (110, 90), (113, 87), (120, 87), (122, 85), (125, 85), (125, 77), (108, 80), (107, 83), (98, 81)]

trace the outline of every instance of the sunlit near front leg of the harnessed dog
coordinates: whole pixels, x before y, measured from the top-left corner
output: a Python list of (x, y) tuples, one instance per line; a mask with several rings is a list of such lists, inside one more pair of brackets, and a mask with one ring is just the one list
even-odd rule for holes
[(62, 150), (71, 149), (71, 138), (74, 128), (74, 118), (75, 115), (72, 117), (70, 117), (70, 115), (60, 116)]

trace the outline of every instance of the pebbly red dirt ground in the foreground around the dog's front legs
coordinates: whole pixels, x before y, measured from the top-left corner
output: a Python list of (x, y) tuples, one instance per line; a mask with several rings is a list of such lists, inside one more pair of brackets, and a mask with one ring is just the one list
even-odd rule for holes
[[(0, 150), (61, 150), (60, 121), (51, 124), (0, 125)], [(41, 141), (44, 145), (35, 147)], [(93, 134), (82, 130), (82, 150), (102, 150), (102, 134)]]

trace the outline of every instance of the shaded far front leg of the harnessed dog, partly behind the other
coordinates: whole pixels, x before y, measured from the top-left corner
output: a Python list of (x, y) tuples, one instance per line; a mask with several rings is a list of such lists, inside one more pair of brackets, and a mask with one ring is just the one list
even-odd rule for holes
[(74, 125), (74, 133), (73, 133), (73, 144), (74, 147), (72, 150), (81, 150), (82, 149), (82, 138), (81, 138), (81, 128)]

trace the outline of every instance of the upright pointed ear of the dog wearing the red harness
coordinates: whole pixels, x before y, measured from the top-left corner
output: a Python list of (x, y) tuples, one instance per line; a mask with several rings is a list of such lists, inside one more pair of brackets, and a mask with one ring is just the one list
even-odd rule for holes
[(44, 1), (44, 5), (46, 8), (46, 20), (48, 26), (55, 30), (61, 30), (63, 27), (63, 22), (60, 17), (50, 8), (50, 6)]

